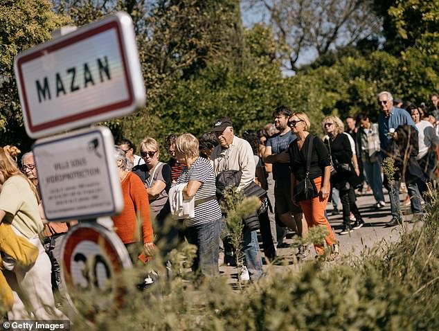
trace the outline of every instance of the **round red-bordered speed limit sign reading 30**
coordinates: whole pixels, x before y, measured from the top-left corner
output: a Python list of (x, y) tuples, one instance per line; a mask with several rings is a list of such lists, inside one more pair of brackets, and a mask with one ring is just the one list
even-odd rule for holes
[(123, 304), (127, 284), (120, 274), (132, 269), (132, 262), (116, 233), (96, 222), (82, 222), (66, 235), (61, 256), (62, 292), (75, 312), (78, 307), (74, 302), (82, 298), (87, 301), (87, 296), (93, 298), (92, 305), (84, 307), (89, 319), (99, 311)]

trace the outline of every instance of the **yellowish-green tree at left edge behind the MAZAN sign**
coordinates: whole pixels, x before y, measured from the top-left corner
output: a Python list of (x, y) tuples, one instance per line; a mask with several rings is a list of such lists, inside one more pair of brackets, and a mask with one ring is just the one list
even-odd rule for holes
[(51, 39), (51, 33), (69, 22), (55, 14), (48, 0), (13, 1), (0, 4), (0, 140), (28, 150), (30, 138), (23, 126), (14, 58), (21, 52)]

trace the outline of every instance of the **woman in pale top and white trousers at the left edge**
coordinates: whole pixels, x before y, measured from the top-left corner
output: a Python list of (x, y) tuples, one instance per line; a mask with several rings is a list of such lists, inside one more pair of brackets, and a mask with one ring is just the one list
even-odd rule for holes
[[(38, 234), (43, 230), (39, 217), (35, 186), (17, 168), (17, 163), (0, 147), (0, 224), (10, 224), (15, 234), (38, 249), (30, 266), (1, 252), (3, 274), (12, 289), (14, 303), (8, 312), (10, 320), (65, 319), (55, 308), (51, 285), (51, 262), (44, 252)], [(14, 238), (12, 238), (13, 240)], [(25, 307), (28, 302), (30, 307)]]

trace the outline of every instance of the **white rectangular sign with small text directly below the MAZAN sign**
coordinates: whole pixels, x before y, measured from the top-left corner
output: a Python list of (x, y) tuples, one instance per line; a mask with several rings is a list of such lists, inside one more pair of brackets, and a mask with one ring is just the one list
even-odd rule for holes
[(42, 139), (33, 152), (48, 220), (84, 220), (123, 210), (114, 140), (107, 127)]

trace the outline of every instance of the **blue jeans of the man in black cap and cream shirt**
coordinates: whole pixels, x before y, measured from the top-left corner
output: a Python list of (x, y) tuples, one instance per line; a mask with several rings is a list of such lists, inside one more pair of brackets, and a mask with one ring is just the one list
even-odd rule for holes
[(242, 251), (244, 252), (245, 265), (249, 270), (250, 279), (258, 280), (262, 276), (262, 257), (260, 255), (258, 233), (250, 231), (244, 226)]

